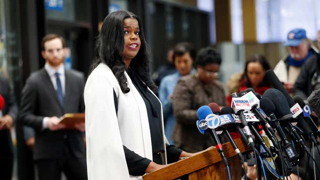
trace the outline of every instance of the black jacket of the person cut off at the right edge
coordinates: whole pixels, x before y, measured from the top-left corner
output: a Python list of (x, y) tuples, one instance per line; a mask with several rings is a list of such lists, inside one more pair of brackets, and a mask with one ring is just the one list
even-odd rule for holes
[(304, 100), (307, 99), (314, 90), (312, 79), (315, 73), (318, 76), (320, 75), (320, 56), (318, 53), (302, 65), (300, 74), (294, 84), (293, 94)]

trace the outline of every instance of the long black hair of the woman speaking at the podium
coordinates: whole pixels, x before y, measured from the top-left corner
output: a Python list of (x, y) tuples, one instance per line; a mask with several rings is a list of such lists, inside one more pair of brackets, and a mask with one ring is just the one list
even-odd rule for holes
[(107, 64), (118, 79), (122, 92), (128, 93), (130, 91), (125, 76), (126, 65), (122, 57), (122, 52), (124, 50), (123, 21), (127, 18), (133, 18), (138, 21), (140, 29), (139, 37), (141, 41), (139, 52), (131, 60), (129, 68), (134, 71), (155, 94), (157, 94), (158, 87), (150, 78), (150, 49), (145, 40), (141, 22), (132, 12), (118, 10), (108, 14), (104, 19), (96, 42), (95, 60), (91, 66), (91, 71), (101, 62)]

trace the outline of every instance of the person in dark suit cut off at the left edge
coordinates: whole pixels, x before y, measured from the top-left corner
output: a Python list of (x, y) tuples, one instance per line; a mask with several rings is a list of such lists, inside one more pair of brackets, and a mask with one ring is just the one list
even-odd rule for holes
[[(11, 140), (10, 128), (17, 116), (17, 106), (15, 98), (11, 94), (9, 81), (0, 76), (0, 95), (1, 104), (4, 101), (4, 107), (0, 112), (0, 178), (1, 180), (11, 180), (13, 168), (13, 146)], [(0, 109), (1, 111), (1, 109)]]

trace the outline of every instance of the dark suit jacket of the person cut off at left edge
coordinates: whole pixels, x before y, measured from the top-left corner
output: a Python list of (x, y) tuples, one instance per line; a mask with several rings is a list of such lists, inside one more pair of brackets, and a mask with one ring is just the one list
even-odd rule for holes
[[(11, 94), (9, 81), (2, 76), (0, 76), (0, 94), (4, 99), (2, 115), (10, 115), (13, 120), (15, 120), (18, 108), (14, 96)], [(12, 140), (9, 129), (0, 130), (0, 146), (0, 158), (13, 157)]]

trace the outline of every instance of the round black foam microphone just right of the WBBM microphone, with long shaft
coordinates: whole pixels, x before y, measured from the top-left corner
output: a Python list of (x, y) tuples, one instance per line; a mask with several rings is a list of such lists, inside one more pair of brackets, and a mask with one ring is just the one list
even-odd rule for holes
[[(269, 98), (266, 98), (266, 97), (263, 97), (260, 101), (261, 101), (260, 102), (261, 109), (263, 109), (266, 114), (270, 115), (271, 120), (276, 120), (276, 117), (273, 114), (273, 112), (276, 111), (276, 107), (275, 107), (274, 103)], [(289, 140), (287, 139), (287, 136), (285, 135), (279, 122), (275, 122), (274, 125), (279, 133), (279, 136), (280, 136), (282, 142), (283, 142), (283, 149), (284, 149), (284, 152), (286, 153), (286, 157), (289, 158), (290, 162), (295, 162), (295, 160), (297, 158), (299, 158), (298, 153), (296, 152), (292, 143), (290, 143)]]

